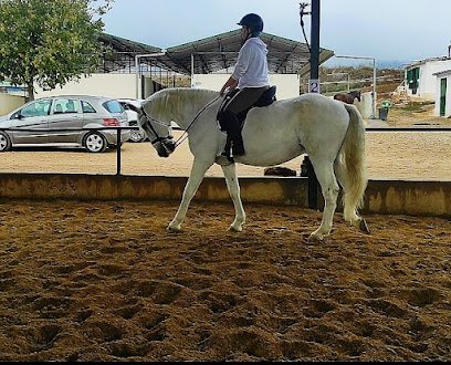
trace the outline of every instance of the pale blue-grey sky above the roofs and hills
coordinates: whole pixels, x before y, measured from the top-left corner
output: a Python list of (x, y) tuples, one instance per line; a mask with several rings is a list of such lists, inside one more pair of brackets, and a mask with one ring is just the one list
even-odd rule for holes
[[(115, 0), (103, 17), (104, 31), (166, 49), (239, 29), (240, 19), (254, 12), (263, 18), (264, 32), (305, 42), (300, 2)], [(304, 22), (310, 41), (310, 17)], [(444, 56), (451, 44), (451, 0), (321, 0), (319, 43), (337, 55), (377, 62)]]

